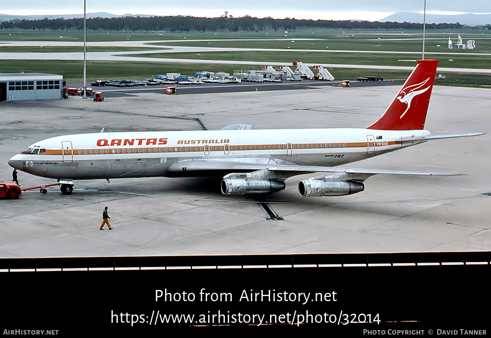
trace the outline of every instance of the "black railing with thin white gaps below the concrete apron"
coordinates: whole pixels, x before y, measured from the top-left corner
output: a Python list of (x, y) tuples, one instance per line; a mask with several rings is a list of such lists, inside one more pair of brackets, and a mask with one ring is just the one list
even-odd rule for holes
[(468, 264), (490, 265), (491, 252), (423, 252), (371, 254), (296, 254), (228, 256), (3, 258), (0, 270), (90, 268), (300, 267)]

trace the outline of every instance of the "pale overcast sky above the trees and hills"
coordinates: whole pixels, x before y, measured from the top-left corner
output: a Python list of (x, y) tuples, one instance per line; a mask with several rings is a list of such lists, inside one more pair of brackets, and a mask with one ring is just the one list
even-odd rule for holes
[[(233, 16), (324, 20), (380, 20), (396, 12), (423, 12), (424, 0), (86, 0), (87, 13)], [(489, 14), (491, 0), (427, 0), (431, 14)], [(83, 13), (83, 0), (0, 0), (1, 14)]]

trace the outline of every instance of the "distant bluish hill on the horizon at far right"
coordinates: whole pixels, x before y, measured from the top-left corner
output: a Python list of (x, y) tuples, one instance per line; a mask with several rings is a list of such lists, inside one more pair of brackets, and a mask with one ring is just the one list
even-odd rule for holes
[[(412, 12), (399, 12), (389, 15), (380, 22), (411, 22), (416, 24), (423, 23), (423, 14)], [(457, 15), (440, 15), (426, 14), (427, 24), (455, 24), (460, 23), (466, 26), (485, 26), (491, 24), (491, 14), (457, 14)]]

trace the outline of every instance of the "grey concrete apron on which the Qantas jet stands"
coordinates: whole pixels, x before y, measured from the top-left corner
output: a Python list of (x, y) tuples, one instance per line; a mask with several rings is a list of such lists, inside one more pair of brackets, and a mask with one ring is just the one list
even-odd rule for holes
[[(68, 100), (0, 106), (0, 180), (7, 160), (37, 140), (84, 132), (200, 130), (232, 123), (258, 129), (363, 128), (392, 102), (397, 86), (167, 96), (133, 91), (102, 103)], [(489, 89), (434, 87), (426, 128), (490, 131)], [(302, 198), (298, 182), (266, 197), (271, 220), (250, 197), (224, 196), (219, 179), (143, 178), (75, 182), (70, 196), (24, 193), (0, 200), (0, 257), (235, 255), (491, 250), (490, 134), (427, 142), (353, 167), (463, 173), (454, 177), (377, 175), (365, 191)], [(22, 187), (52, 183), (25, 173)], [(109, 206), (114, 230), (100, 231)]]

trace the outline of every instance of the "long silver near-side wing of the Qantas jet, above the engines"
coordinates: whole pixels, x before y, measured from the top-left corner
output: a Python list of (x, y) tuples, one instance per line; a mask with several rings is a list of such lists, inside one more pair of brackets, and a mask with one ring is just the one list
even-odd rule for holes
[[(251, 159), (249, 159), (251, 160)], [(260, 162), (261, 159), (257, 159)], [(377, 174), (388, 175), (419, 175), (419, 176), (457, 176), (463, 174), (444, 173), (444, 172), (424, 172), (424, 171), (408, 171), (408, 170), (388, 170), (388, 169), (364, 169), (364, 168), (342, 168), (342, 167), (324, 167), (324, 166), (304, 166), (290, 164), (275, 164), (275, 163), (251, 163), (239, 161), (220, 161), (220, 160), (184, 160), (171, 165), (168, 169), (169, 173), (187, 172), (188, 175), (194, 172), (213, 173), (216, 172), (219, 176), (223, 172), (254, 172), (267, 169), (276, 175), (282, 173), (282, 178), (291, 176), (309, 174), (309, 173), (346, 173), (359, 174), (362, 176), (372, 176)], [(198, 176), (198, 175), (197, 175)]]

